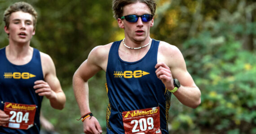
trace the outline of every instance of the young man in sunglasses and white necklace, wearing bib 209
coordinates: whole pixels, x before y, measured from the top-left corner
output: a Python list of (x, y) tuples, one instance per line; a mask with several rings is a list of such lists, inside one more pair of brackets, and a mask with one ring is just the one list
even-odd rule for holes
[(181, 51), (150, 38), (155, 0), (113, 0), (112, 4), (125, 38), (95, 47), (73, 76), (84, 133), (102, 133), (89, 109), (88, 80), (104, 70), (107, 134), (168, 134), (171, 94), (196, 108), (201, 92), (186, 70)]

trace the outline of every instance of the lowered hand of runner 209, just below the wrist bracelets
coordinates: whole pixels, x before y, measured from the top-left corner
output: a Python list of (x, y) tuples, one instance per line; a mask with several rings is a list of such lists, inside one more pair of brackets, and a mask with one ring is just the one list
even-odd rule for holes
[(102, 127), (94, 116), (87, 117), (83, 124), (85, 134), (102, 134)]

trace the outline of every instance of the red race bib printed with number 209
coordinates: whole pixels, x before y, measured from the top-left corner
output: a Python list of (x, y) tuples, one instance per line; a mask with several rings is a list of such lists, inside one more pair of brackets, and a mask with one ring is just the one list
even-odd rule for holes
[(159, 107), (123, 112), (125, 134), (162, 134)]

